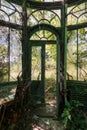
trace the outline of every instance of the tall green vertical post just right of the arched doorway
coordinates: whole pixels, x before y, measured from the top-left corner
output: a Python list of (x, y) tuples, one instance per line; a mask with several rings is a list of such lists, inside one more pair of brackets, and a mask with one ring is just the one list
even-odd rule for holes
[[(62, 25), (62, 42), (63, 42), (63, 75), (64, 75), (64, 90), (67, 89), (66, 86), (66, 64), (67, 64), (67, 4), (64, 3), (62, 5), (62, 11), (61, 11), (61, 25)], [(64, 93), (65, 98), (65, 104), (67, 102), (67, 93)]]

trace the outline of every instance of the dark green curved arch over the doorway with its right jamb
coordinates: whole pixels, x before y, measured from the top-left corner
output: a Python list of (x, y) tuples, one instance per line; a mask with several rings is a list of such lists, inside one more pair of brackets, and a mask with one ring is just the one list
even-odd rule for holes
[(32, 27), (31, 29), (28, 30), (28, 32), (30, 33), (31, 37), (36, 31), (38, 30), (48, 30), (51, 31), (53, 34), (55, 34), (56, 38), (57, 38), (57, 42), (56, 42), (56, 51), (57, 51), (57, 59), (56, 59), (56, 102), (57, 102), (57, 115), (59, 114), (59, 68), (60, 68), (60, 45), (59, 45), (59, 38), (61, 37), (60, 32), (53, 27), (52, 25), (48, 25), (48, 24), (40, 24), (40, 25), (36, 25), (34, 27)]

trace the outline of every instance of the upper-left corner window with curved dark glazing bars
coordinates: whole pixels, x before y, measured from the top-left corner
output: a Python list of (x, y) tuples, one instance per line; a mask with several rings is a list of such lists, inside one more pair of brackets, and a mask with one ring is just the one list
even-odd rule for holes
[(0, 19), (22, 25), (22, 7), (6, 0), (0, 0)]

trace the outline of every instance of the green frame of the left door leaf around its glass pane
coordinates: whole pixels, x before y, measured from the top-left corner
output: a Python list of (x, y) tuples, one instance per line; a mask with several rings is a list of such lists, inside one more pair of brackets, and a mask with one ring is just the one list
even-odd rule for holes
[(41, 98), (41, 102), (45, 102), (45, 93), (44, 93), (44, 83), (45, 83), (45, 44), (42, 44), (41, 43), (42, 41), (33, 41), (33, 40), (30, 40), (29, 41), (29, 77), (30, 77), (30, 80), (32, 82), (35, 82), (35, 81), (38, 81), (38, 80), (32, 80), (31, 79), (31, 69), (32, 69), (32, 47), (34, 46), (38, 46), (38, 47), (41, 47), (41, 80), (39, 80), (40, 82), (40, 85), (41, 85), (41, 89), (40, 89), (40, 94), (42, 96)]

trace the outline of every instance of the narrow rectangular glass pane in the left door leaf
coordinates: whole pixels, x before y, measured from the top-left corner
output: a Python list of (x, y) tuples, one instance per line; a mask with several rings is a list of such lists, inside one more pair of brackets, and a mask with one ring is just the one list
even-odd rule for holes
[(31, 79), (41, 80), (41, 47), (32, 47)]

